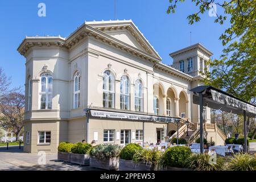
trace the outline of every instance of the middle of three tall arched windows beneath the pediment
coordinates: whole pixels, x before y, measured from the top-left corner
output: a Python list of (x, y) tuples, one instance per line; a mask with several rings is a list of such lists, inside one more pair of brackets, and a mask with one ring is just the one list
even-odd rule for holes
[(129, 78), (122, 76), (120, 80), (120, 108), (129, 109), (130, 92), (129, 92)]

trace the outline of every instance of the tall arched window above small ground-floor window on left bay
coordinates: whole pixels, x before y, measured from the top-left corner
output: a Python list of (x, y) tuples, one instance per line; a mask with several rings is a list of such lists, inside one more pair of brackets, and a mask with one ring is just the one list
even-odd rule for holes
[(40, 109), (52, 109), (52, 75), (43, 73), (40, 78)]

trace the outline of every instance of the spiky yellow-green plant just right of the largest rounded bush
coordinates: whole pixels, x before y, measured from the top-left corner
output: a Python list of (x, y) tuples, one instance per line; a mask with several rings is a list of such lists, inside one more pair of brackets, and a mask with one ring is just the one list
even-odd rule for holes
[(192, 154), (187, 159), (187, 167), (197, 171), (220, 171), (224, 164), (221, 157), (217, 157), (216, 163), (209, 163), (210, 156), (205, 154)]

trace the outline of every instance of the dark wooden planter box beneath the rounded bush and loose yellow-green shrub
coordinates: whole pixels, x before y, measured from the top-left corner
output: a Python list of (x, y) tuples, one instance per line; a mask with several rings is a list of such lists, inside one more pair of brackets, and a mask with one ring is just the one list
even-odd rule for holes
[(150, 164), (135, 164), (133, 160), (119, 159), (119, 171), (150, 171)]

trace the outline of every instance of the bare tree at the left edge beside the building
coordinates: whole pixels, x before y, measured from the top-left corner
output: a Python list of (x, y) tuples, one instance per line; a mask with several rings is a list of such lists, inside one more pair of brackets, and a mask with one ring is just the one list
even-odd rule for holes
[(11, 92), (0, 99), (0, 112), (3, 114), (0, 127), (15, 133), (16, 140), (24, 126), (24, 104), (24, 94), (20, 92)]

